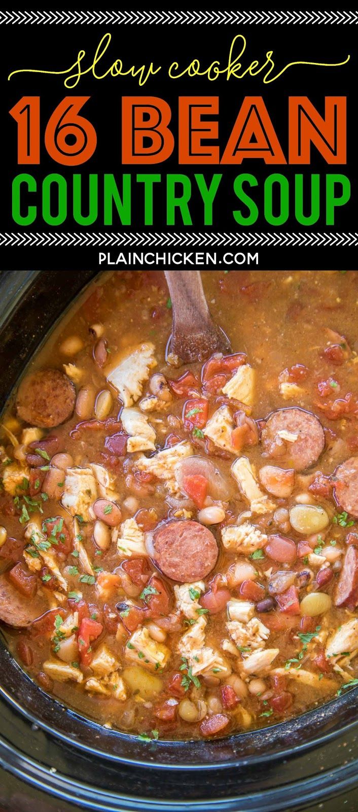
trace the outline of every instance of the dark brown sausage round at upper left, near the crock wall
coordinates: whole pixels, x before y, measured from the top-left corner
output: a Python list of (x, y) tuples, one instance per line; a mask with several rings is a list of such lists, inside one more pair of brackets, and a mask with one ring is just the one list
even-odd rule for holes
[(41, 429), (53, 429), (71, 417), (75, 387), (59, 369), (38, 369), (19, 385), (16, 398), (19, 417)]

